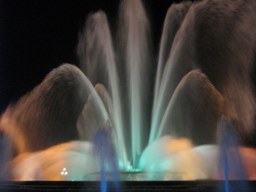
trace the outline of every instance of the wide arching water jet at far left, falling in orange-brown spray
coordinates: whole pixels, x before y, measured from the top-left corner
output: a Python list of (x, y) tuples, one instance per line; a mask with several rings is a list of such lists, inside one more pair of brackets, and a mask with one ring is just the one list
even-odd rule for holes
[(0, 127), (12, 138), (18, 154), (78, 139), (76, 121), (90, 94), (98, 116), (106, 122), (108, 113), (90, 80), (74, 65), (63, 64), (10, 105)]

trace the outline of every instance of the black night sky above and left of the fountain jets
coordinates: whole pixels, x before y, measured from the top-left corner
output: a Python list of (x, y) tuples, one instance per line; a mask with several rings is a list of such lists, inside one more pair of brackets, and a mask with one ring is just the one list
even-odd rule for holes
[[(78, 65), (78, 32), (89, 12), (106, 12), (112, 31), (119, 0), (0, 1), (0, 112), (61, 63)], [(176, 2), (179, 2), (178, 0)], [(155, 53), (172, 0), (144, 0)]]

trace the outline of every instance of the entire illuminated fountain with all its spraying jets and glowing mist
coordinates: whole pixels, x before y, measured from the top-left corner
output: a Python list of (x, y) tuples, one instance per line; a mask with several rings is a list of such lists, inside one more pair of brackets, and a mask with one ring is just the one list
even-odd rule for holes
[[(255, 126), (256, 4), (239, 2), (173, 4), (156, 74), (140, 0), (121, 1), (115, 38), (103, 11), (90, 14), (79, 34), (81, 71), (61, 65), (1, 116), (18, 154), (12, 179), (106, 181), (120, 170), (143, 180), (223, 179), (217, 132), (233, 124), (243, 145)], [(255, 180), (255, 149), (235, 151), (244, 166), (236, 179)]]

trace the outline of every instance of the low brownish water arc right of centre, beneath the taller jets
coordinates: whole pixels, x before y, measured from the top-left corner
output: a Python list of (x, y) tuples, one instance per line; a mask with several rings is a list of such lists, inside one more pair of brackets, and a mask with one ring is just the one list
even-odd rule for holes
[[(214, 143), (215, 138), (212, 136), (215, 135), (216, 122), (221, 116), (222, 103), (222, 95), (207, 76), (198, 69), (192, 70), (176, 87), (163, 114), (156, 138), (159, 139), (171, 132), (177, 137), (190, 138), (193, 143)], [(169, 128), (167, 131), (166, 127)], [(202, 128), (210, 130), (202, 132)]]

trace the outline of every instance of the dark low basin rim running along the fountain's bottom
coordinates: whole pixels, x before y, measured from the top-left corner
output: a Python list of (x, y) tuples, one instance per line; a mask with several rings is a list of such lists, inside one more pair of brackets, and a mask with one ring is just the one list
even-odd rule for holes
[[(230, 181), (231, 186), (237, 186), (241, 181)], [(118, 191), (114, 182), (108, 182), (108, 191)], [(224, 181), (199, 180), (199, 181), (123, 181), (120, 182), (119, 191), (141, 192), (141, 191), (219, 191), (224, 186)], [(40, 191), (40, 192), (98, 192), (100, 191), (99, 181), (24, 181), (24, 182), (0, 182), (1, 192), (10, 191)], [(248, 181), (242, 191), (255, 191), (256, 181)]]

